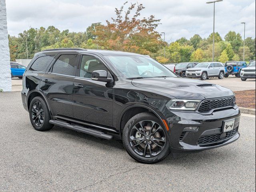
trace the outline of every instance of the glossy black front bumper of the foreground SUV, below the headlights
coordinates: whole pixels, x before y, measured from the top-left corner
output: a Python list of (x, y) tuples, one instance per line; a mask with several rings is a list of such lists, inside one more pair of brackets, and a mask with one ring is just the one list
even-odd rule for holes
[[(170, 124), (171, 152), (174, 154), (217, 148), (234, 142), (240, 136), (238, 132), (240, 110), (237, 106), (216, 111), (210, 115), (177, 111), (169, 111), (166, 115)], [(230, 119), (235, 119), (234, 129), (224, 134), (222, 132), (223, 121)], [(196, 126), (198, 130), (184, 131), (184, 128), (188, 126)]]

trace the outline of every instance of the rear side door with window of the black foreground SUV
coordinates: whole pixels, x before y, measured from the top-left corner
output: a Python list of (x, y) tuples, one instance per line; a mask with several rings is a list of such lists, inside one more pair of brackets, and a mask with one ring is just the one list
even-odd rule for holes
[(40, 82), (53, 116), (73, 117), (73, 81), (78, 54), (61, 53)]

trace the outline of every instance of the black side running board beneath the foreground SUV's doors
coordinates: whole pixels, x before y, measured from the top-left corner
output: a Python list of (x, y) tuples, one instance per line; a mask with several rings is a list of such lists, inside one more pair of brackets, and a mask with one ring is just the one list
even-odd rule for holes
[(85, 127), (78, 126), (78, 125), (71, 125), (71, 124), (63, 122), (63, 121), (50, 120), (49, 123), (54, 124), (54, 125), (58, 125), (58, 126), (61, 126), (61, 127), (64, 127), (64, 128), (72, 129), (72, 130), (75, 130), (75, 131), (78, 131), (78, 132), (86, 133), (86, 134), (89, 134), (89, 135), (92, 135), (92, 136), (107, 139), (107, 140), (110, 140), (110, 139), (113, 138), (112, 135), (108, 135), (108, 134), (105, 134), (103, 132), (92, 130), (92, 129), (85, 128)]

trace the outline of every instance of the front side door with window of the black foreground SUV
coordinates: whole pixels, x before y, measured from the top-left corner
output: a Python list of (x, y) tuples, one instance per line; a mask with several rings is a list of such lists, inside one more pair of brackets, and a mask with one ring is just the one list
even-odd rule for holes
[(107, 87), (106, 82), (91, 79), (93, 71), (109, 70), (97, 56), (81, 57), (74, 79), (74, 118), (112, 128), (113, 88)]

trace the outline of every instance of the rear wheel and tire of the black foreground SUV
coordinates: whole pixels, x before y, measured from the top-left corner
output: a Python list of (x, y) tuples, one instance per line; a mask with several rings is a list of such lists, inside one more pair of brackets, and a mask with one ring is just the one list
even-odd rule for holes
[(29, 117), (35, 130), (46, 131), (53, 127), (53, 124), (49, 123), (50, 112), (42, 97), (35, 97), (30, 102)]

